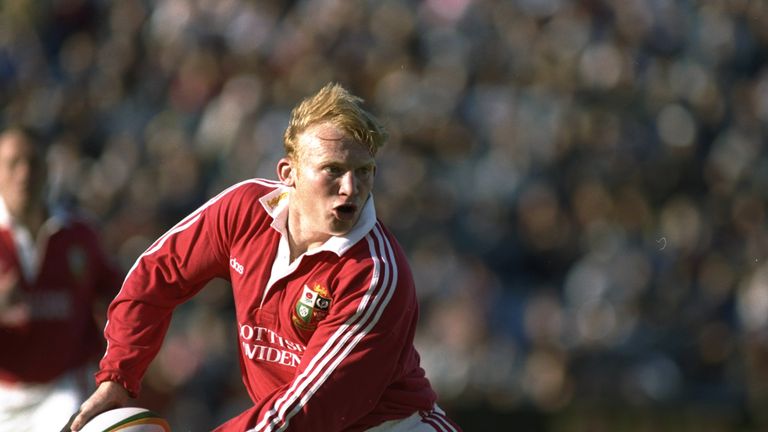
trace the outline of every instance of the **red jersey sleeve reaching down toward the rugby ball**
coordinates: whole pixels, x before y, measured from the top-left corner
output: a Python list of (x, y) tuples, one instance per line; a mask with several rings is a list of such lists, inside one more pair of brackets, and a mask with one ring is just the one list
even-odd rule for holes
[(212, 199), (157, 239), (135, 262), (109, 306), (107, 349), (96, 382), (132, 396), (160, 349), (174, 308), (215, 277), (227, 277), (226, 197)]

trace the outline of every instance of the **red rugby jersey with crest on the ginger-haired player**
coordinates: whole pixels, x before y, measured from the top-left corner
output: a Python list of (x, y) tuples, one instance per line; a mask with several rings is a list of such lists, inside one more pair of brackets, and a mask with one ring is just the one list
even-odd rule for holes
[(413, 277), (373, 199), (348, 234), (290, 263), (289, 193), (236, 184), (155, 241), (110, 305), (97, 381), (138, 393), (173, 308), (220, 277), (232, 284), (254, 405), (217, 430), (357, 431), (431, 409)]

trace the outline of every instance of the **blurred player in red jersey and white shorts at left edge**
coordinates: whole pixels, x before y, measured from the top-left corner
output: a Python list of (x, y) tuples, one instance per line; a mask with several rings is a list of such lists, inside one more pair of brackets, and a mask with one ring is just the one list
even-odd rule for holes
[(49, 207), (41, 138), (0, 133), (0, 430), (57, 430), (94, 388), (119, 274), (91, 224)]

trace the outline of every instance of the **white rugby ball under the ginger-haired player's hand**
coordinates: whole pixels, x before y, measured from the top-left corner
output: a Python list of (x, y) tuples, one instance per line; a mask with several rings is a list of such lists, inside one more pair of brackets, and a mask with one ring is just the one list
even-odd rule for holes
[(171, 432), (168, 422), (139, 407), (115, 408), (92, 418), (80, 432)]

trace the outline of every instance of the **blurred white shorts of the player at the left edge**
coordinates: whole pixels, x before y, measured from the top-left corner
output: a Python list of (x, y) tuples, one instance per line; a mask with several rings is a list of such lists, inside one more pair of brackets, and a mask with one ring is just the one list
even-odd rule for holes
[(93, 389), (90, 372), (79, 369), (45, 384), (0, 383), (0, 432), (61, 430)]

